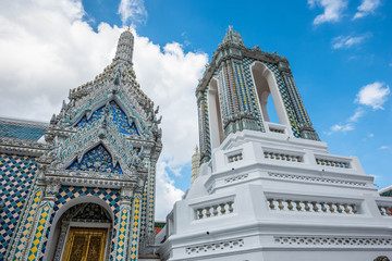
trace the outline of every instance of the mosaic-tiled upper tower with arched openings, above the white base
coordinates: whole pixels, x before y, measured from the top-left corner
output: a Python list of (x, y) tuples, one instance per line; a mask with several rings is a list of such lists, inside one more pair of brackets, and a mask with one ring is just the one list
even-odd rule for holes
[[(200, 162), (231, 133), (286, 133), (319, 140), (295, 86), (287, 59), (245, 47), (231, 27), (196, 89)], [(271, 113), (274, 104), (275, 113)], [(268, 113), (270, 112), (270, 113)], [(278, 119), (270, 115), (277, 114)]]

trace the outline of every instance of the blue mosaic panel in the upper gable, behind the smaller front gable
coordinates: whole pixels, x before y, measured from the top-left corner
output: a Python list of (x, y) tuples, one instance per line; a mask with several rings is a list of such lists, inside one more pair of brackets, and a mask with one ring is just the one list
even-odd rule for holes
[[(131, 136), (140, 136), (139, 132), (136, 128), (135, 123), (130, 124), (125, 112), (120, 108), (120, 105), (115, 101), (109, 102), (110, 107), (110, 116), (112, 117), (112, 122), (119, 126), (119, 129), (122, 134), (128, 134)], [(82, 117), (78, 123), (76, 123), (75, 127), (86, 127), (90, 125), (93, 122), (101, 119), (105, 114), (106, 105), (102, 105), (98, 110), (96, 110), (93, 115), (87, 120), (86, 116)]]

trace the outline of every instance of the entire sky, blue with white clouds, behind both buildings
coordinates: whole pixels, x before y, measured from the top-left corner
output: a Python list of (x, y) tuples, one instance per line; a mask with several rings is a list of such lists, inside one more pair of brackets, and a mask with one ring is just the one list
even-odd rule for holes
[(378, 188), (392, 184), (391, 1), (21, 0), (3, 3), (0, 21), (0, 116), (39, 121), (110, 63), (122, 27), (134, 28), (137, 79), (163, 115), (160, 219), (189, 186), (194, 90), (229, 25), (247, 47), (289, 59), (331, 153), (357, 156)]

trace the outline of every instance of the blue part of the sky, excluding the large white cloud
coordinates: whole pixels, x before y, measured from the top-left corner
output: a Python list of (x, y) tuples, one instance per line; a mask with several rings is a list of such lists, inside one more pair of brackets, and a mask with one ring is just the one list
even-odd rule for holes
[[(99, 22), (122, 25), (113, 2), (83, 2), (95, 20), (93, 26)], [(210, 58), (228, 25), (233, 25), (246, 46), (259, 45), (285, 55), (330, 152), (359, 157), (379, 188), (392, 184), (391, 95), (385, 95), (380, 108), (356, 101), (364, 86), (378, 82), (385, 89), (392, 83), (391, 1), (146, 0), (138, 4), (144, 4), (147, 15), (131, 17), (126, 24), (134, 24), (139, 35), (161, 46), (176, 41), (185, 51)], [(362, 4), (370, 7), (360, 9)], [(329, 8), (330, 17), (319, 16)], [(358, 119), (350, 120), (356, 112)], [(188, 171), (185, 167), (175, 178), (182, 189), (188, 186)]]

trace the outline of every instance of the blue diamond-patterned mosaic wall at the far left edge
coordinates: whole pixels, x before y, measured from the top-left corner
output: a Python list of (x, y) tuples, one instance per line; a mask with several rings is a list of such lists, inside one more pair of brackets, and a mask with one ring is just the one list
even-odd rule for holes
[(26, 200), (37, 171), (35, 158), (0, 154), (0, 260), (4, 254), (17, 223), (26, 208)]

